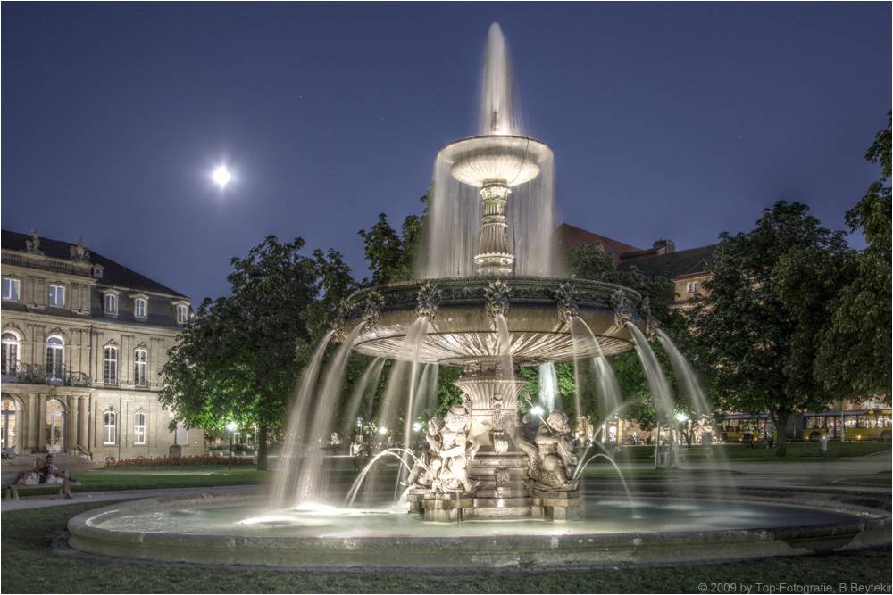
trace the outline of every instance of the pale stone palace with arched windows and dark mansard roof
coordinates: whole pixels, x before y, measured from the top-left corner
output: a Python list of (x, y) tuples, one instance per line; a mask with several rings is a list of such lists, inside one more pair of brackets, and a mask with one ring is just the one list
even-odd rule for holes
[(114, 260), (3, 231), (3, 449), (93, 460), (199, 454), (158, 401), (189, 299)]

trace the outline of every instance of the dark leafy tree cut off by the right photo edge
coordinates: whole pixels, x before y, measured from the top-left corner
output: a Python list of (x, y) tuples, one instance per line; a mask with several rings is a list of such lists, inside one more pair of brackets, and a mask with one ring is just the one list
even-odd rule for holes
[(890, 377), (890, 114), (865, 159), (880, 163), (881, 178), (847, 211), (847, 226), (867, 243), (855, 276), (831, 303), (830, 324), (819, 335), (815, 376), (841, 396), (885, 394)]

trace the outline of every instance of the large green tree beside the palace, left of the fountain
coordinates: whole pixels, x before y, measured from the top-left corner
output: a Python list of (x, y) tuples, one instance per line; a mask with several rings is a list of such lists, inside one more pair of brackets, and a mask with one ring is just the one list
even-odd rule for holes
[(297, 375), (354, 288), (340, 253), (307, 257), (304, 244), (269, 236), (232, 259), (230, 295), (204, 300), (162, 369), (159, 398), (175, 419), (209, 431), (255, 426), (262, 469)]

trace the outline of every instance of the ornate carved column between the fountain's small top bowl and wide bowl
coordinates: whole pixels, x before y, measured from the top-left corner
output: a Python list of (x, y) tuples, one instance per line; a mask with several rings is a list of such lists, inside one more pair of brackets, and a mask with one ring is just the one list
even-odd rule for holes
[(506, 277), (514, 272), (514, 254), (508, 249), (508, 220), (505, 204), (512, 190), (505, 182), (488, 182), (480, 188), (483, 215), (474, 264), (483, 277)]

